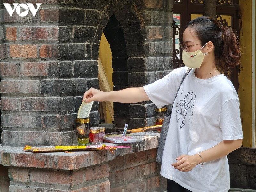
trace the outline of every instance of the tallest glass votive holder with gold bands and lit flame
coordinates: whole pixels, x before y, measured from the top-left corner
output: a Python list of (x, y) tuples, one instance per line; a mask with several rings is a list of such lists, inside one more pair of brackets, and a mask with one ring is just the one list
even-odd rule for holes
[(78, 145), (90, 145), (90, 118), (76, 118), (76, 133), (78, 137)]

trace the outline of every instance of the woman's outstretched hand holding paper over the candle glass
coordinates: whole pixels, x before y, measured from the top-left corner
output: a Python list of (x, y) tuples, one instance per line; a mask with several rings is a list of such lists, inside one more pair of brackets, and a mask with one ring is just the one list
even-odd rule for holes
[(90, 88), (88, 91), (84, 93), (83, 100), (85, 103), (89, 103), (91, 101), (104, 101), (104, 95), (106, 92), (100, 91), (98, 89)]

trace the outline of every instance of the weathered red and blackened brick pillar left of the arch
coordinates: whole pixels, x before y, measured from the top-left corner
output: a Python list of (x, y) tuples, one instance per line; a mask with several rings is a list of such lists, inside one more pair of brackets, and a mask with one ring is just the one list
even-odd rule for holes
[[(82, 95), (98, 88), (99, 40), (89, 41), (95, 31), (86, 26), (85, 10), (51, 2), (41, 1), (35, 16), (14, 12), (11, 17), (1, 10), (6, 35), (0, 45), (2, 145), (76, 144)], [(95, 102), (92, 126), (99, 123), (97, 110)]]

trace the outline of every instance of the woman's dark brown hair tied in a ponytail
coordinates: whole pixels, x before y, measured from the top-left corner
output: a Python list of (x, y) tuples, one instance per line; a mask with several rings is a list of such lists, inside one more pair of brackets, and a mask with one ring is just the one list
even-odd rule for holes
[(202, 44), (212, 41), (216, 63), (222, 69), (227, 71), (239, 65), (241, 52), (236, 34), (231, 28), (220, 26), (216, 20), (206, 16), (191, 20), (187, 27), (195, 31)]

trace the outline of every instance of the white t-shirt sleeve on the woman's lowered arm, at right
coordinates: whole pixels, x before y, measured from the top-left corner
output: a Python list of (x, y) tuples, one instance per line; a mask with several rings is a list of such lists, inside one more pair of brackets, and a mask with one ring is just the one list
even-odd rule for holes
[(239, 100), (231, 99), (222, 105), (220, 128), (223, 140), (243, 139)]

